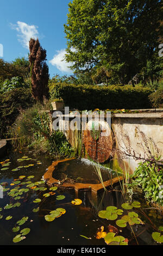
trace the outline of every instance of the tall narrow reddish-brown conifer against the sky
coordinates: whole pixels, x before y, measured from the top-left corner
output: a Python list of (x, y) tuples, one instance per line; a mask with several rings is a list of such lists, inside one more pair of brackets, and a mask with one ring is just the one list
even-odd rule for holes
[(32, 94), (34, 99), (43, 102), (48, 99), (48, 66), (46, 64), (46, 50), (40, 46), (39, 39), (29, 41), (29, 63), (30, 75), (32, 79)]

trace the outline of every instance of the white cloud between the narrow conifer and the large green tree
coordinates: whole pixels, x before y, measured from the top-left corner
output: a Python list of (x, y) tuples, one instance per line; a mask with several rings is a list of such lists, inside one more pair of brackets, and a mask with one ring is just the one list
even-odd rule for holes
[(52, 60), (49, 60), (53, 66), (57, 66), (61, 72), (72, 72), (68, 66), (71, 66), (73, 63), (67, 63), (65, 60), (66, 49), (58, 50), (57, 54), (54, 55)]

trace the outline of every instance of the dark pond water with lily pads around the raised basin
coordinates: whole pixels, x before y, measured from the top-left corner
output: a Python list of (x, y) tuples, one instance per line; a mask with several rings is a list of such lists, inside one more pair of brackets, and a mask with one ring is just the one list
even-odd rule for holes
[[(108, 221), (98, 216), (98, 212), (105, 210), (109, 205), (122, 209), (124, 199), (119, 192), (119, 185), (116, 185), (112, 192), (99, 193), (96, 200), (92, 199), (91, 192), (80, 192), (78, 198), (82, 200), (82, 204), (73, 205), (71, 202), (76, 198), (73, 190), (58, 188), (52, 191), (41, 180), (48, 166), (52, 164), (51, 158), (40, 156), (36, 159), (32, 153), (24, 151), (10, 153), (0, 160), (4, 161), (5, 165), (0, 166), (0, 184), (4, 187), (3, 198), (0, 199), (0, 245), (14, 245), (12, 240), (16, 235), (20, 237), (20, 234), (23, 239), (15, 245), (106, 245), (103, 238), (96, 239), (96, 233), (102, 226), (104, 231), (110, 231), (109, 225), (116, 227), (118, 235), (125, 237), (129, 245), (158, 245), (151, 234), (155, 231), (154, 225), (161, 225), (161, 216), (154, 209), (144, 209), (149, 206), (142, 200), (139, 200), (141, 208), (134, 208), (145, 222), (143, 225), (132, 226), (136, 239), (128, 224), (126, 228), (119, 228), (115, 220)], [(80, 164), (78, 169), (80, 170)], [(37, 181), (40, 182), (35, 183)], [(45, 197), (49, 192), (51, 194)], [(46, 221), (45, 216), (58, 208), (65, 209), (65, 214), (52, 222)], [(33, 212), (33, 209), (37, 209), (37, 212)], [(124, 214), (127, 214), (127, 210), (124, 210)], [(6, 220), (8, 216), (12, 218)], [(24, 223), (18, 222), (23, 217), (26, 217)], [(14, 232), (14, 227), (19, 230)], [(26, 234), (27, 228), (30, 229), (29, 234)], [(25, 235), (21, 233), (22, 229), (25, 229)]]

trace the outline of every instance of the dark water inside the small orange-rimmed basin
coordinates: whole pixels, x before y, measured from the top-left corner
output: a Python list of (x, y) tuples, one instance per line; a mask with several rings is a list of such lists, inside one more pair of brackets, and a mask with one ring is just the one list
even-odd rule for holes
[[(103, 181), (109, 180), (116, 176), (116, 173), (109, 169), (101, 167), (101, 174)], [(60, 162), (55, 167), (53, 178), (57, 180), (64, 180), (66, 178), (72, 179), (73, 182), (83, 184), (100, 184), (101, 181), (95, 172), (95, 164), (89, 160), (70, 160), (67, 162)], [(70, 180), (68, 180), (70, 182)]]

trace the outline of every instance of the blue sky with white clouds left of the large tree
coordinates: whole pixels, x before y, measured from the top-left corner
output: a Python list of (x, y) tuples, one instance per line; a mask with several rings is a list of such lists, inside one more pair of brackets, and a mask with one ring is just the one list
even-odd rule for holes
[(0, 44), (3, 58), (11, 62), (27, 57), (28, 39), (39, 38), (47, 50), (47, 64), (51, 77), (70, 75), (66, 62), (61, 62), (66, 48), (64, 23), (70, 0), (6, 0), (0, 3)]

